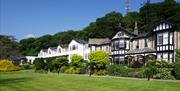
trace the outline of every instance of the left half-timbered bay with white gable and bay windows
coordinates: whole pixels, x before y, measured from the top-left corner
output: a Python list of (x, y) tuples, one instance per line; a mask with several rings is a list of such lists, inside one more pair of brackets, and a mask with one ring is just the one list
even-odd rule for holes
[(111, 40), (111, 62), (120, 64), (125, 63), (125, 56), (130, 50), (131, 38), (136, 36), (123, 28), (119, 28), (119, 32)]

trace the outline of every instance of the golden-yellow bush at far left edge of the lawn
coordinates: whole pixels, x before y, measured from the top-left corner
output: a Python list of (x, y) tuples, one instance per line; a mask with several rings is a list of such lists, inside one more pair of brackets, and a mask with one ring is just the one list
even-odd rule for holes
[(20, 68), (15, 66), (11, 61), (0, 60), (0, 72), (17, 71), (17, 70), (20, 70)]

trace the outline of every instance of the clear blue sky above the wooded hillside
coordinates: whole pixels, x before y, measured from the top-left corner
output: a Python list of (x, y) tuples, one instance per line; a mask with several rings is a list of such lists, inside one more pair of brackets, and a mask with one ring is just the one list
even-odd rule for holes
[[(138, 11), (144, 2), (129, 0), (130, 11)], [(81, 30), (112, 11), (124, 15), (125, 0), (0, 0), (0, 34), (21, 40)]]

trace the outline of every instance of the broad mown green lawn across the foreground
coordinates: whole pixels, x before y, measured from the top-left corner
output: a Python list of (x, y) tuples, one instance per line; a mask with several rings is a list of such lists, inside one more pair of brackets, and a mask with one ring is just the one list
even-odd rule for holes
[(180, 91), (180, 83), (20, 71), (0, 73), (0, 91)]

